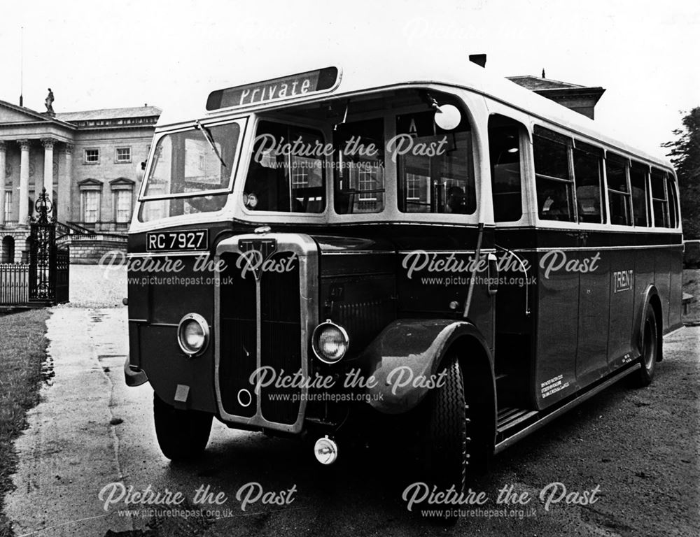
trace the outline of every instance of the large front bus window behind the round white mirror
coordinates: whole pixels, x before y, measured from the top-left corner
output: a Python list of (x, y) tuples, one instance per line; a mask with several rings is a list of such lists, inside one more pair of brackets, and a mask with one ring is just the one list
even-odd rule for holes
[(444, 131), (434, 117), (433, 110), (396, 116), (387, 151), (396, 159), (399, 210), (472, 214), (477, 204), (468, 120), (463, 116), (456, 129)]

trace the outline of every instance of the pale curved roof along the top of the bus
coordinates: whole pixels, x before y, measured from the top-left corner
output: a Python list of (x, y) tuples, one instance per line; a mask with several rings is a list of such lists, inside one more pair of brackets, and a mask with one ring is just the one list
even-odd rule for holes
[[(183, 122), (191, 122), (195, 119), (206, 119), (207, 117), (223, 117), (235, 113), (252, 112), (259, 110), (268, 110), (270, 108), (279, 108), (281, 106), (290, 106), (294, 103), (304, 101), (330, 99), (342, 94), (350, 94), (365, 90), (372, 90), (381, 87), (393, 87), (396, 85), (405, 84), (439, 84), (453, 87), (461, 87), (466, 90), (471, 90), (482, 94), (490, 99), (495, 99), (505, 103), (508, 106), (518, 108), (524, 113), (528, 113), (534, 117), (538, 117), (547, 122), (557, 124), (564, 129), (577, 132), (583, 136), (587, 136), (594, 140), (601, 141), (606, 145), (610, 145), (619, 150), (624, 150), (650, 162), (654, 162), (661, 166), (671, 168), (671, 163), (668, 162), (662, 154), (661, 150), (640, 149), (637, 145), (631, 145), (622, 141), (622, 136), (612, 132), (610, 127), (603, 127), (594, 120), (585, 117), (565, 106), (562, 106), (546, 97), (540, 96), (535, 92), (527, 90), (516, 83), (507, 80), (500, 76), (489, 73), (488, 69), (463, 60), (461, 57), (458, 62), (451, 61), (451, 57), (447, 55), (436, 55), (430, 58), (429, 61), (420, 61), (412, 58), (410, 61), (397, 60), (391, 66), (391, 69), (386, 68), (386, 64), (377, 62), (374, 57), (372, 61), (353, 62), (352, 65), (338, 64), (340, 81), (337, 87), (327, 92), (314, 92), (305, 96), (300, 96), (283, 101), (274, 101), (270, 103), (262, 103), (253, 106), (241, 106), (236, 108), (222, 108), (221, 110), (212, 110), (207, 112), (204, 110), (204, 103), (207, 102), (207, 95), (202, 95), (201, 108), (199, 117), (183, 117), (176, 110), (169, 113), (166, 110), (160, 116), (157, 127), (165, 127)], [(315, 66), (316, 69), (323, 66)], [(279, 78), (288, 77), (290, 73), (282, 73)], [(256, 81), (251, 81), (256, 82)], [(219, 88), (211, 88), (218, 90)]]

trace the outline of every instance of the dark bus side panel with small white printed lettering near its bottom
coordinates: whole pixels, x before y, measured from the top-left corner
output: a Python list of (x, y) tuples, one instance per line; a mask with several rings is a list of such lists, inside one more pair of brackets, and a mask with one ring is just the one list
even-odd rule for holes
[[(566, 252), (570, 259), (578, 252)], [(556, 403), (577, 389), (576, 350), (578, 340), (579, 273), (552, 271), (538, 255), (537, 358), (535, 399), (539, 409)], [(542, 268), (542, 266), (545, 268)]]

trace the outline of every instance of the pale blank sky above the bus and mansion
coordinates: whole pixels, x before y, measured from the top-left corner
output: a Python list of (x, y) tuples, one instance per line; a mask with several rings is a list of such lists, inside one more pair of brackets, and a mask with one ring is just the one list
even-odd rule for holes
[(458, 69), (479, 53), (498, 76), (604, 87), (596, 122), (657, 154), (700, 106), (696, 0), (0, 0), (0, 15), (0, 99), (38, 111), (48, 87), (57, 112), (203, 110), (211, 90), (357, 57)]

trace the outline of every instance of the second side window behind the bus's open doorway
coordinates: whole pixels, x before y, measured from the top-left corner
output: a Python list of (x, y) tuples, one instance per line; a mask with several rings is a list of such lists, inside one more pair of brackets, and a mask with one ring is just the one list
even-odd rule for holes
[(573, 171), (579, 222), (603, 222), (603, 150), (575, 141)]

